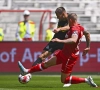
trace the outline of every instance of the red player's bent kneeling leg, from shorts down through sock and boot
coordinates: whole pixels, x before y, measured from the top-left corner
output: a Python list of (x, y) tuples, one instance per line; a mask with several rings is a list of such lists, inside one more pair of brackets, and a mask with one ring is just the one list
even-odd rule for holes
[(94, 83), (91, 77), (80, 78), (80, 77), (70, 75), (77, 59), (78, 59), (77, 56), (74, 56), (74, 57), (72, 56), (71, 58), (67, 60), (66, 65), (62, 64), (61, 82), (64, 84), (88, 83), (92, 87), (97, 87), (97, 85)]

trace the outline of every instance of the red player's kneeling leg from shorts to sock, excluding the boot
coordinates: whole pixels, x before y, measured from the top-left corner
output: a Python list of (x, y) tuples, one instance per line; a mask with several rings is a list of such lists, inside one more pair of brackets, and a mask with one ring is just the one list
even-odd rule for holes
[(78, 56), (72, 55), (70, 58), (63, 61), (62, 73), (61, 73), (61, 82), (62, 83), (77, 84), (77, 83), (85, 82), (85, 79), (83, 79), (83, 78), (75, 78), (75, 77), (71, 76), (73, 66), (75, 65), (77, 60), (78, 60)]

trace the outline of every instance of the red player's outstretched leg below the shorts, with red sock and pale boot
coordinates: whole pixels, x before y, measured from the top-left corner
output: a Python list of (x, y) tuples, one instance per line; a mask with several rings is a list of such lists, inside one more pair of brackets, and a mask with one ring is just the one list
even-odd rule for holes
[(56, 56), (53, 56), (52, 58), (50, 58), (48, 61), (37, 64), (35, 66), (32, 66), (29, 69), (26, 69), (20, 61), (18, 61), (18, 66), (20, 68), (20, 71), (23, 74), (27, 74), (27, 73), (33, 73), (33, 72), (38, 72), (38, 71), (42, 71), (48, 67), (54, 66), (56, 65)]

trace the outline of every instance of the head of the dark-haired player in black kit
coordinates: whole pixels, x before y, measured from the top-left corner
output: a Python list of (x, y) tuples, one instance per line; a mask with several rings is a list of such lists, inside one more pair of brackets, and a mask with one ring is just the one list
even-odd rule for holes
[(55, 14), (59, 20), (66, 20), (68, 18), (68, 13), (66, 13), (66, 10), (64, 7), (58, 7), (55, 10)]

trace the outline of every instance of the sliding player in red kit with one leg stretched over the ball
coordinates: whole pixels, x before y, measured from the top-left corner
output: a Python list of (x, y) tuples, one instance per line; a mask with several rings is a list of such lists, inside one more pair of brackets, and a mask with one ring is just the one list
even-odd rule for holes
[(90, 34), (85, 31), (84, 28), (77, 23), (77, 15), (71, 13), (68, 16), (70, 30), (66, 33), (64, 40), (54, 38), (53, 42), (64, 43), (62, 50), (57, 51), (55, 55), (48, 61), (37, 64), (29, 69), (24, 68), (20, 61), (18, 61), (19, 68), (24, 73), (33, 73), (42, 71), (48, 67), (62, 64), (61, 67), (61, 82), (64, 84), (78, 84), (78, 83), (88, 83), (92, 87), (98, 87), (91, 76), (88, 78), (80, 78), (71, 76), (73, 66), (78, 60), (79, 55), (79, 44), (83, 35), (86, 37), (86, 48), (83, 51), (83, 56), (85, 56), (90, 50)]

